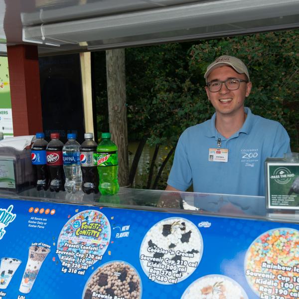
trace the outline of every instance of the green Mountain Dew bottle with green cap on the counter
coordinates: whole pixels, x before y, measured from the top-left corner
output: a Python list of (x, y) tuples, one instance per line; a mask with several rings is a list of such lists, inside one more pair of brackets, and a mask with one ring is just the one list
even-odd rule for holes
[(117, 146), (111, 141), (110, 133), (102, 133), (102, 141), (97, 147), (97, 166), (101, 194), (116, 194), (120, 189), (118, 183)]

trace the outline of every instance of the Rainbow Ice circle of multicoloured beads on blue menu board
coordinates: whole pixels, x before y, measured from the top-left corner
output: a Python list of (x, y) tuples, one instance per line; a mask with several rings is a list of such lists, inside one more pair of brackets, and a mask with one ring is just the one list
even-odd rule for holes
[(247, 251), (244, 268), (259, 298), (299, 298), (299, 231), (278, 228), (259, 236)]

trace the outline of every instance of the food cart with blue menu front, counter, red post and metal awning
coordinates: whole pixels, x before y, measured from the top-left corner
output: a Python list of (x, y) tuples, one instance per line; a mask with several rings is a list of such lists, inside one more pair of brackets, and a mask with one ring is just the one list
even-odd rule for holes
[[(42, 131), (38, 55), (299, 27), (298, 0), (0, 3), (15, 136)], [(264, 197), (1, 191), (0, 299), (299, 298), (298, 217)]]

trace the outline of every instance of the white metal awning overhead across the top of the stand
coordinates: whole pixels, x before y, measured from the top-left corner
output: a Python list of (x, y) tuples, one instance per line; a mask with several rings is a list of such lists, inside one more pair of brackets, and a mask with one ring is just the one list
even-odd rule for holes
[(36, 43), (40, 54), (299, 27), (299, 0), (0, 1), (7, 44)]

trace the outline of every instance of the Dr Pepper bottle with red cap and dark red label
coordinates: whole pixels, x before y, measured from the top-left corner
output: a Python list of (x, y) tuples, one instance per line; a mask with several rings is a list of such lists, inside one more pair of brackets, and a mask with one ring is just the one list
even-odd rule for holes
[(51, 133), (51, 141), (46, 148), (50, 191), (64, 191), (65, 176), (63, 172), (62, 147), (59, 133)]

